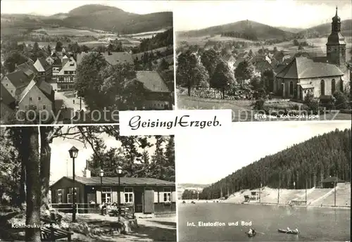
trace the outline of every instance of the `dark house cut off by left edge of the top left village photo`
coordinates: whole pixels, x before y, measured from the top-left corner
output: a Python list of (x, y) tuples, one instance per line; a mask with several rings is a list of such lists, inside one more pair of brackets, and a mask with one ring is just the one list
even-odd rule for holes
[(0, 84), (0, 91), (0, 123), (6, 124), (8, 117), (15, 112), (16, 100), (3, 84)]

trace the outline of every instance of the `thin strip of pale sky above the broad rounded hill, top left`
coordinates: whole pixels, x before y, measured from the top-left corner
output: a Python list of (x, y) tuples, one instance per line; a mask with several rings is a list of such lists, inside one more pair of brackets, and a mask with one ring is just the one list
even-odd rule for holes
[(73, 8), (86, 4), (113, 6), (126, 12), (139, 14), (172, 11), (170, 1), (1, 0), (1, 13), (53, 15), (56, 13), (68, 13)]

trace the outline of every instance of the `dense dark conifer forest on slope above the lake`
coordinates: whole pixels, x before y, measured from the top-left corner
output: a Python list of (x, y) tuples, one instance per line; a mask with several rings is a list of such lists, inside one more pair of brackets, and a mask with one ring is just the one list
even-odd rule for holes
[[(254, 148), (255, 149), (255, 148)], [(282, 189), (308, 189), (322, 179), (337, 176), (351, 181), (351, 129), (315, 136), (301, 144), (247, 165), (203, 189), (200, 199), (220, 198), (242, 189), (263, 186)]]

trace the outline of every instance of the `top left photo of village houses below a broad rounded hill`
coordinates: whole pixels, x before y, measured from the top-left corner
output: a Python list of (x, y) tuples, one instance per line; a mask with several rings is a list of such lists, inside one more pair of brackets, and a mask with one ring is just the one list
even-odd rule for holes
[(1, 1), (1, 125), (173, 110), (168, 1)]

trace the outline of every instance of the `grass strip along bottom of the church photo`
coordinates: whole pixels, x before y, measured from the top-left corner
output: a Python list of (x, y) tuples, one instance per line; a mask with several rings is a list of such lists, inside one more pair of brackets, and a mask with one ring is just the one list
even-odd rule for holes
[(253, 110), (251, 104), (253, 101), (246, 100), (220, 100), (214, 98), (199, 98), (195, 96), (177, 95), (177, 108), (184, 110), (212, 110), (212, 109), (230, 109), (232, 110), (232, 122), (249, 122), (249, 121), (305, 121), (305, 120), (351, 120), (351, 114), (347, 113), (326, 113), (321, 114), (314, 119), (294, 119), (287, 117), (258, 117), (260, 113)]

